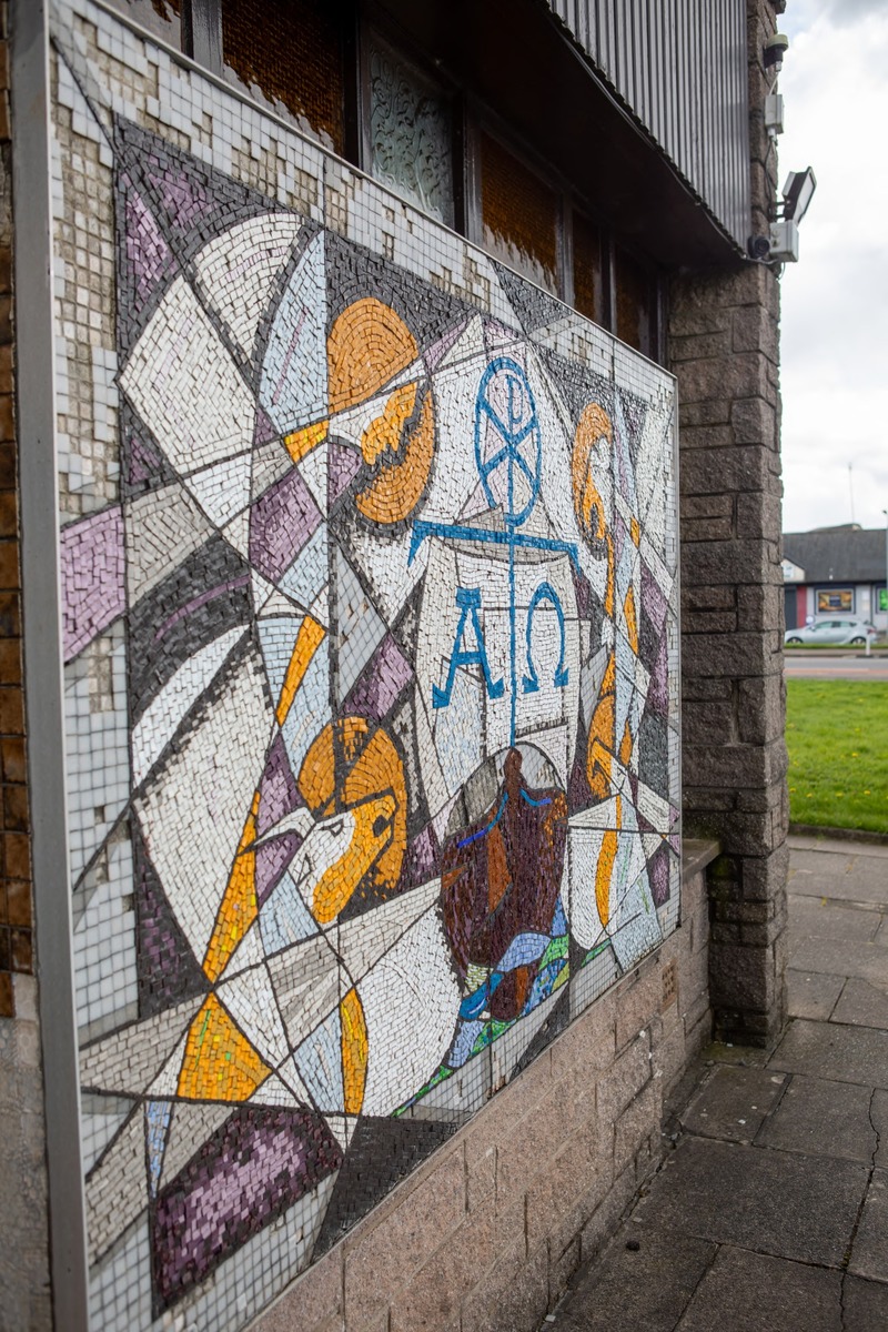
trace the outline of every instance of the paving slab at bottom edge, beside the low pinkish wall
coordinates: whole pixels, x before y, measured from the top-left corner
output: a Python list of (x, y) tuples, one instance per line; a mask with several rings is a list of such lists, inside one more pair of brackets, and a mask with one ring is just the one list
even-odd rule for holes
[(623, 1233), (600, 1264), (580, 1276), (570, 1301), (555, 1315), (555, 1332), (672, 1332), (716, 1255), (716, 1245), (687, 1235), (648, 1235), (626, 1248)]

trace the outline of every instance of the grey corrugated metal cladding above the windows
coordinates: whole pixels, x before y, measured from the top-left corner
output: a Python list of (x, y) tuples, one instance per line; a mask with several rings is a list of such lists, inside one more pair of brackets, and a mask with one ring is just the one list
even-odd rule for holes
[(746, 0), (550, 0), (722, 225), (750, 232)]

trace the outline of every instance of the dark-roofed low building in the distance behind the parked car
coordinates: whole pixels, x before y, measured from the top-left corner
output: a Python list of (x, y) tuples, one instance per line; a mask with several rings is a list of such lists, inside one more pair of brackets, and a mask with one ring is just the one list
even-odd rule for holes
[(783, 553), (787, 629), (839, 613), (888, 629), (884, 527), (843, 523), (787, 531)]

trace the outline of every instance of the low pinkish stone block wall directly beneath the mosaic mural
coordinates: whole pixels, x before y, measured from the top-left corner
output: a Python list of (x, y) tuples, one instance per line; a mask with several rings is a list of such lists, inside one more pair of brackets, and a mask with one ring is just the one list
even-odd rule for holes
[(683, 924), (254, 1324), (533, 1332), (656, 1169), (664, 1107), (710, 1040), (706, 863)]

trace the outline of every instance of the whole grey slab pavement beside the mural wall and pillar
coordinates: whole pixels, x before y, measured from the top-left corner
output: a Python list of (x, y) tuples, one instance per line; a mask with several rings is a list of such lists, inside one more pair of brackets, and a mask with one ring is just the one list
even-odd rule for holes
[(789, 1024), (712, 1046), (555, 1332), (887, 1332), (888, 847), (791, 838)]

